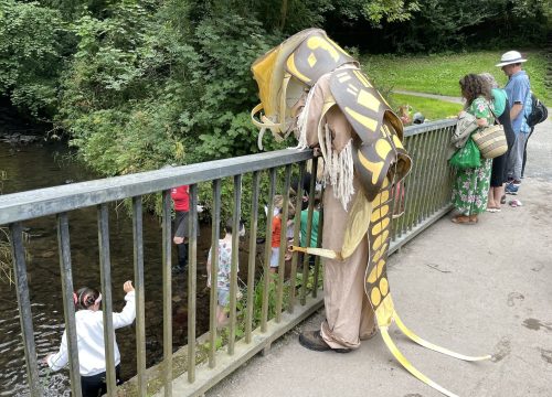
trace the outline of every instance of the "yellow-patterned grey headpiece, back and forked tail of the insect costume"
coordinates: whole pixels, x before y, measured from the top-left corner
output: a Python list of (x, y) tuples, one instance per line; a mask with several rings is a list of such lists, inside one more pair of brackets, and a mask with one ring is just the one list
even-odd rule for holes
[[(368, 238), (370, 251), (364, 288), (383, 341), (411, 374), (447, 396), (456, 396), (417, 371), (397, 350), (389, 334), (389, 328), (394, 322), (406, 336), (427, 348), (465, 361), (490, 358), (488, 355), (461, 355), (424, 341), (404, 325), (394, 309), (386, 272), (393, 218), (392, 191), (412, 168), (412, 160), (402, 143), (401, 120), (359, 68), (358, 62), (322, 30), (309, 29), (297, 33), (257, 60), (252, 69), (262, 101), (252, 112), (253, 121), (259, 128), (270, 128), (273, 131), (282, 131), (288, 126), (286, 116), (290, 115), (291, 103), (297, 101), (295, 97), (289, 100), (293, 96), (286, 89), (288, 83), (299, 82), (305, 93), (309, 89), (314, 93), (318, 81), (325, 81), (320, 77), (329, 75), (331, 98), (325, 98), (320, 108), (309, 111), (319, 115), (319, 129), (326, 124), (326, 111), (335, 104), (344, 115), (354, 131), (351, 163), (361, 180), (363, 194), (358, 194), (350, 207), (341, 251), (323, 247), (294, 247), (294, 250), (342, 260), (354, 251), (359, 242)], [(265, 112), (261, 121), (253, 117), (257, 110)], [(344, 133), (339, 130), (333, 132)], [(320, 147), (331, 144), (322, 141), (318, 143)]]

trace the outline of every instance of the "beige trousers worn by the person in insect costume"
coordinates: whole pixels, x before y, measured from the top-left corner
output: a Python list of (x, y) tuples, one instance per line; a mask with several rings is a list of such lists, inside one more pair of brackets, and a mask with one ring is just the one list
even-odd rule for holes
[[(357, 178), (354, 189), (355, 194), (362, 194)], [(323, 248), (341, 250), (347, 218), (348, 213), (328, 185), (323, 194)], [(326, 321), (321, 324), (321, 335), (332, 348), (357, 348), (375, 325), (374, 312), (364, 293), (368, 239), (362, 239), (347, 260), (325, 259), (323, 264)]]

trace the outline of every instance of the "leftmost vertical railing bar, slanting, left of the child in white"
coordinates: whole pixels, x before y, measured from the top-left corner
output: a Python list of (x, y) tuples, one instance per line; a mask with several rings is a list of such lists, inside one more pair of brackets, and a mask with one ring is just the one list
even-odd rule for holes
[(21, 223), (10, 224), (11, 254), (13, 258), (13, 270), (15, 275), (15, 292), (18, 296), (19, 320), (21, 323), (21, 336), (26, 362), (26, 378), (31, 397), (42, 397), (42, 386), (39, 378), (39, 366), (36, 363), (36, 348), (34, 344), (33, 319), (31, 312), (31, 299), (29, 298), (29, 282), (26, 279), (25, 249), (23, 246), (23, 229)]

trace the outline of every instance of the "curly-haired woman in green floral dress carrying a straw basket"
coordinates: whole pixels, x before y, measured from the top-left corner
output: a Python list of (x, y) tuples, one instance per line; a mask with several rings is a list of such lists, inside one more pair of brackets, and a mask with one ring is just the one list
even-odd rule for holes
[[(465, 110), (476, 117), (479, 128), (491, 126), (495, 118), (489, 109), (492, 105), (488, 83), (476, 74), (464, 76), (459, 83), (466, 98)], [(459, 214), (453, 217), (454, 223), (476, 224), (477, 215), (486, 211), (491, 164), (492, 160), (481, 158), (480, 167), (456, 171), (453, 204)]]

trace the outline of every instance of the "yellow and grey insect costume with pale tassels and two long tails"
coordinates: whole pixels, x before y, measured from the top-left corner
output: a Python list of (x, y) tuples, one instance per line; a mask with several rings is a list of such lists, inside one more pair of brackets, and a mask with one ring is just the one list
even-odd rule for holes
[[(252, 71), (261, 97), (261, 104), (252, 110), (252, 120), (261, 129), (259, 147), (266, 130), (277, 140), (295, 132), (299, 149), (320, 146), (328, 187), (325, 194), (333, 194), (336, 200), (330, 202), (342, 205), (347, 212), (341, 236), (333, 236), (333, 240), (342, 242), (340, 249), (328, 249), (323, 244), (322, 248), (294, 249), (330, 261), (347, 261), (368, 240), (364, 292), (383, 341), (411, 374), (440, 393), (455, 396), (417, 371), (389, 334), (394, 321), (406, 336), (427, 348), (466, 361), (490, 358), (465, 356), (424, 341), (404, 325), (394, 309), (386, 275), (392, 191), (412, 167), (402, 144), (401, 120), (359, 63), (322, 30), (308, 29), (293, 35), (255, 61)], [(355, 186), (360, 192), (355, 192)], [(325, 213), (333, 210), (325, 206)], [(328, 233), (336, 230), (327, 230), (325, 225), (323, 235)]]

